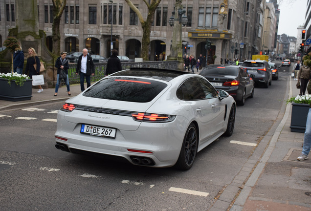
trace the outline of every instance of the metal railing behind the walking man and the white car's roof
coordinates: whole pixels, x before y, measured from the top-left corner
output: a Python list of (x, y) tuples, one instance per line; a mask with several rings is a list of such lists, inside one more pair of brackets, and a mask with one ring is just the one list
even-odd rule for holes
[[(95, 74), (91, 76), (91, 82), (97, 82), (105, 77), (107, 63), (95, 63)], [(124, 62), (121, 63), (122, 69), (130, 69), (131, 67), (145, 67), (157, 69), (174, 69), (178, 68), (178, 61), (163, 61), (163, 62)], [(79, 84), (80, 76), (76, 75), (76, 63), (69, 64), (68, 76), (69, 84)]]

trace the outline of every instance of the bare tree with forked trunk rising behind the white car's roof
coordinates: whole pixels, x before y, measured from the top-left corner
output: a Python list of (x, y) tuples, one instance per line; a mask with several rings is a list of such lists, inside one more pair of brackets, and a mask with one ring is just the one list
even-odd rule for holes
[(143, 36), (141, 40), (141, 57), (143, 60), (149, 60), (148, 53), (149, 53), (149, 45), (150, 45), (150, 32), (151, 32), (151, 25), (155, 19), (155, 10), (161, 0), (142, 0), (148, 7), (148, 15), (146, 21), (144, 21), (144, 18), (140, 11), (135, 7), (135, 5), (132, 3), (131, 0), (125, 0), (128, 5), (131, 7), (131, 9), (137, 14), (138, 19), (141, 23), (141, 27), (143, 30)]

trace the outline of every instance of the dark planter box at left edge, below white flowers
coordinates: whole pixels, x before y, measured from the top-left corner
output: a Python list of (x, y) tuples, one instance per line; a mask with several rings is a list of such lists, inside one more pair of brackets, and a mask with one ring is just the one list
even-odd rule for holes
[(6, 101), (23, 101), (31, 100), (32, 97), (32, 79), (27, 79), (22, 86), (17, 85), (15, 80), (11, 85), (6, 79), (0, 78), (0, 100)]

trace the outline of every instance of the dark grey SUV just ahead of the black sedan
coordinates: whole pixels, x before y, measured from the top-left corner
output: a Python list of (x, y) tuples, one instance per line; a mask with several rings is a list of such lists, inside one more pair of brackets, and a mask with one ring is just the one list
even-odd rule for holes
[(255, 84), (263, 83), (266, 88), (271, 85), (272, 71), (265, 60), (245, 60), (242, 65), (248, 75), (253, 75), (252, 79)]

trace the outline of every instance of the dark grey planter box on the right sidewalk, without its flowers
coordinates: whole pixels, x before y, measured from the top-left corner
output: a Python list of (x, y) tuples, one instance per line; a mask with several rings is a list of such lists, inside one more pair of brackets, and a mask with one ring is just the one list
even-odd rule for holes
[(310, 105), (296, 103), (291, 103), (291, 105), (290, 131), (304, 133)]

